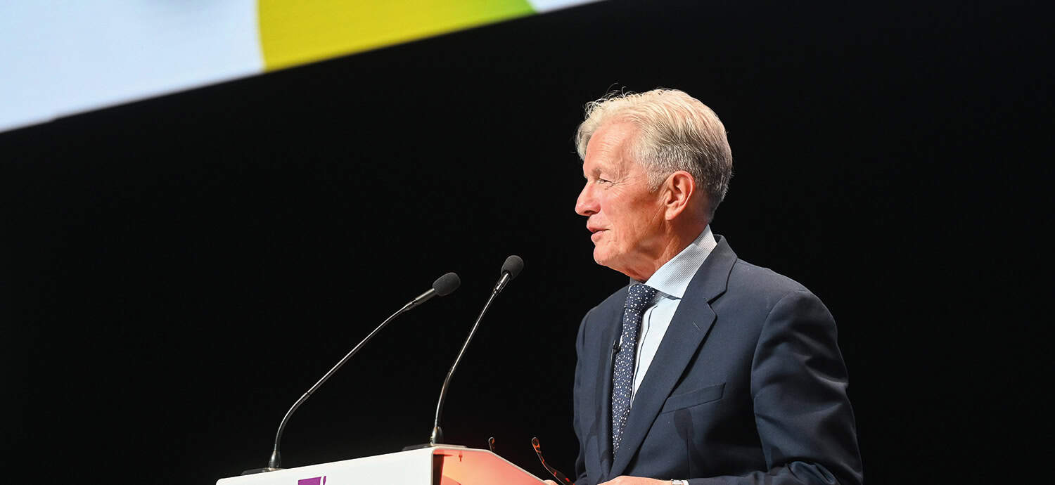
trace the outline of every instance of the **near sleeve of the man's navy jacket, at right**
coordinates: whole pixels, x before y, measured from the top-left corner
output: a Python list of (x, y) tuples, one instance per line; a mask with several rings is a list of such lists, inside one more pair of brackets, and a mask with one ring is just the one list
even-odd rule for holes
[(751, 363), (754, 421), (768, 471), (689, 483), (860, 485), (846, 386), (831, 313), (809, 291), (785, 294), (766, 317)]

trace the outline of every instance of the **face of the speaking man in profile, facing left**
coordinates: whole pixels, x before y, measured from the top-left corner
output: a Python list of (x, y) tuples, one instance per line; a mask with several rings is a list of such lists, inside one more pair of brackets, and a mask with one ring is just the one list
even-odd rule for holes
[(587, 183), (575, 212), (589, 217), (594, 260), (644, 280), (664, 246), (664, 206), (658, 191), (649, 191), (645, 170), (632, 159), (630, 144), (636, 134), (629, 122), (609, 122), (590, 138), (582, 162)]

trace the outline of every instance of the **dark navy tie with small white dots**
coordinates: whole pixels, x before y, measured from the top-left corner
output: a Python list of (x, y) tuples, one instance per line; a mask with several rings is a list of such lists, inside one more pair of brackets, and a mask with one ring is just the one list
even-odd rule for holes
[(612, 373), (612, 458), (619, 451), (622, 429), (630, 415), (630, 396), (634, 389), (634, 353), (637, 352), (637, 333), (641, 329), (641, 315), (652, 305), (658, 290), (648, 285), (630, 287), (622, 310), (622, 334), (619, 350), (615, 353)]

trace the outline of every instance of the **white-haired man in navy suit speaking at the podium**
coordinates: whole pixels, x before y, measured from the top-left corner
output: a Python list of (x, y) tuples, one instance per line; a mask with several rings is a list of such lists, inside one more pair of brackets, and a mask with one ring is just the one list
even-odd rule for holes
[(831, 314), (711, 232), (732, 173), (717, 116), (617, 95), (577, 143), (594, 259), (632, 282), (579, 328), (576, 483), (861, 483)]

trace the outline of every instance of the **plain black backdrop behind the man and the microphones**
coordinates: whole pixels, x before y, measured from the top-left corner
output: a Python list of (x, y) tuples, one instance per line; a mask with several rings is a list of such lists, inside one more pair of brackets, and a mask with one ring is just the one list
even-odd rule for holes
[(212, 483), (448, 441), (571, 472), (592, 261), (572, 134), (610, 89), (729, 131), (713, 228), (840, 325), (869, 483), (1044, 476), (1051, 25), (1012, 2), (601, 2), (0, 134), (4, 473)]

